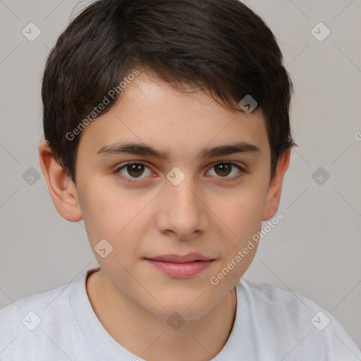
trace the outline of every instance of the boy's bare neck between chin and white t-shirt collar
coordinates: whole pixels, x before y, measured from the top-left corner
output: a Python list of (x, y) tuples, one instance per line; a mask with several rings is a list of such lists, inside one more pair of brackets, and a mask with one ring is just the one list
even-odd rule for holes
[(228, 340), (237, 307), (232, 288), (202, 317), (172, 329), (164, 318), (119, 293), (102, 269), (87, 278), (87, 294), (111, 337), (130, 353), (148, 361), (212, 360)]

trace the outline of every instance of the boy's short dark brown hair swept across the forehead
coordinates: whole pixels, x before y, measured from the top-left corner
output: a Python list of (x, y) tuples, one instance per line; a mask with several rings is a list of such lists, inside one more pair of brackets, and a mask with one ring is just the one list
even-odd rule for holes
[(250, 8), (238, 0), (99, 0), (60, 35), (42, 80), (44, 137), (73, 183), (80, 136), (67, 134), (135, 67), (178, 89), (194, 85), (236, 111), (250, 94), (266, 119), (271, 177), (297, 146), (292, 82), (273, 33)]

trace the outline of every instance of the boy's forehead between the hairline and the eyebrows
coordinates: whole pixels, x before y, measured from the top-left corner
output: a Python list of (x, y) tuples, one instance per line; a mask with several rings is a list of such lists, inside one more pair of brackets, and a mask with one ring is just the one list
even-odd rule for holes
[(269, 153), (262, 111), (231, 111), (200, 90), (175, 90), (144, 73), (126, 85), (109, 111), (82, 130), (78, 152), (95, 156), (124, 140), (162, 149), (170, 158), (195, 157), (207, 145), (233, 142), (255, 145), (266, 157)]

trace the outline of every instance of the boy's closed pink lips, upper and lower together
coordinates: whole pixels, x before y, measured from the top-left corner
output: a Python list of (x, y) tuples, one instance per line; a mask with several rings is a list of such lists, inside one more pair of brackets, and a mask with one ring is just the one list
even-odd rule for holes
[(214, 261), (209, 257), (199, 253), (189, 253), (188, 255), (161, 255), (145, 258), (147, 262), (155, 268), (164, 272), (168, 276), (177, 279), (188, 279), (207, 269)]

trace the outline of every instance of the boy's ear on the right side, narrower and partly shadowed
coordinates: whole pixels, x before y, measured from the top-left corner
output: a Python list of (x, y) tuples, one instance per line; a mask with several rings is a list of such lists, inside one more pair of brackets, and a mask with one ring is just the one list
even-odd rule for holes
[(276, 168), (276, 174), (269, 182), (269, 189), (267, 192), (266, 204), (263, 210), (262, 221), (271, 219), (279, 209), (279, 201), (281, 199), (281, 190), (283, 177), (290, 164), (290, 148), (283, 153)]

